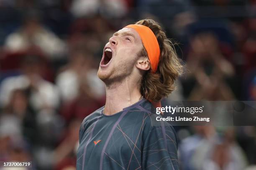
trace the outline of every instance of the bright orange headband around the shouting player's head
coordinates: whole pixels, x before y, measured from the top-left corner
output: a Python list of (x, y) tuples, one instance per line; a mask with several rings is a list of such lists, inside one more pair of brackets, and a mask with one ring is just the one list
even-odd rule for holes
[(145, 25), (131, 24), (125, 28), (133, 28), (141, 37), (142, 43), (148, 53), (152, 72), (156, 72), (156, 68), (160, 57), (160, 48), (153, 31)]

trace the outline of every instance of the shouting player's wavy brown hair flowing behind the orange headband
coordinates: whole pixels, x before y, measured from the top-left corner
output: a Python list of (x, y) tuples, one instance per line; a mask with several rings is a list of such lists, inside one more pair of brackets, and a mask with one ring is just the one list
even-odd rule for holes
[[(151, 69), (146, 71), (141, 79), (141, 94), (150, 101), (160, 101), (167, 97), (174, 87), (174, 80), (182, 74), (182, 60), (177, 57), (174, 44), (166, 37), (161, 26), (151, 19), (144, 19), (135, 24), (145, 25), (150, 28), (158, 41), (160, 47), (159, 64), (155, 73)], [(141, 56), (146, 56), (145, 47), (141, 51)]]

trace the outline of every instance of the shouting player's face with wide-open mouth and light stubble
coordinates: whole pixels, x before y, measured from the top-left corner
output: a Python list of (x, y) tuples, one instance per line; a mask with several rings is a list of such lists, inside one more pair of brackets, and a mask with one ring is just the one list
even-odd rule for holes
[(109, 84), (131, 75), (142, 49), (141, 38), (133, 28), (115, 32), (103, 49), (98, 77)]

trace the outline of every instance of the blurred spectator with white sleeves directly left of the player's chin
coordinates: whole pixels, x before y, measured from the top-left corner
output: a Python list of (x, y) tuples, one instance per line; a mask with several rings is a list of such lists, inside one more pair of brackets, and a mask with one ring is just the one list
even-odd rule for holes
[(67, 124), (74, 118), (83, 120), (104, 105), (105, 86), (97, 78), (90, 51), (72, 50), (70, 62), (56, 77), (56, 85), (63, 102), (61, 115)]

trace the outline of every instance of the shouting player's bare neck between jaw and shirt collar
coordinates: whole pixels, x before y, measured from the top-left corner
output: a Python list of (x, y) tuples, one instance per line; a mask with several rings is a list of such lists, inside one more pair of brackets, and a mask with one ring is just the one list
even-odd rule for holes
[(138, 102), (141, 97), (139, 80), (132, 81), (129, 78), (122, 82), (115, 82), (106, 85), (106, 105), (105, 115), (113, 115), (123, 110), (123, 108)]

